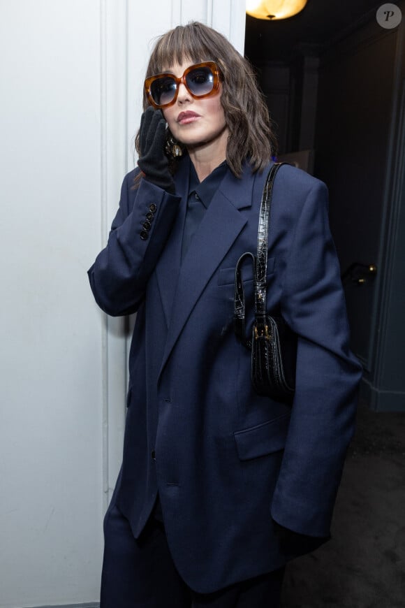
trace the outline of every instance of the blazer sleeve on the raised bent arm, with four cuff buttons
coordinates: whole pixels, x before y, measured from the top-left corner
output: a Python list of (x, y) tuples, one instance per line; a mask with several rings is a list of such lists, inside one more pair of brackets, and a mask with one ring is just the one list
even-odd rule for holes
[(114, 317), (138, 310), (181, 200), (143, 179), (134, 189), (137, 171), (124, 179), (108, 243), (88, 271), (96, 302)]

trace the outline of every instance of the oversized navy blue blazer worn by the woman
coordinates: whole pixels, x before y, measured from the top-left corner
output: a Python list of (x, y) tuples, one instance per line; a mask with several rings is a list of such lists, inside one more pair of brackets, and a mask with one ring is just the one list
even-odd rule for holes
[[(325, 184), (282, 166), (274, 184), (268, 310), (298, 335), (292, 407), (258, 396), (233, 331), (235, 265), (256, 252), (267, 171), (244, 166), (219, 189), (181, 262), (189, 157), (176, 194), (122, 185), (108, 245), (89, 270), (98, 305), (137, 312), (129, 357), (124, 458), (112, 498), (138, 537), (159, 491), (179, 574), (209, 593), (291, 555), (281, 526), (327, 537), (353, 435), (361, 369), (349, 350)], [(246, 331), (252, 270), (243, 271)]]

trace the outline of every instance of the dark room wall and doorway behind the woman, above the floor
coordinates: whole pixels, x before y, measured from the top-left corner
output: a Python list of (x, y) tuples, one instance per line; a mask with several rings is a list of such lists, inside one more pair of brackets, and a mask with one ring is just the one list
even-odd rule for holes
[[(323, 180), (352, 347), (374, 410), (405, 411), (405, 2), (381, 27), (371, 0), (308, 0), (281, 21), (246, 15), (279, 158)], [(371, 267), (371, 269), (370, 269)]]

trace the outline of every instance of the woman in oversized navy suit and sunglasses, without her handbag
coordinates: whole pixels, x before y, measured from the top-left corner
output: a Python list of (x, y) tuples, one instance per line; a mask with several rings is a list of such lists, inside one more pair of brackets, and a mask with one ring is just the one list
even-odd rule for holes
[(233, 330), (273, 145), (251, 68), (213, 29), (176, 27), (144, 109), (138, 168), (89, 270), (105, 312), (138, 313), (101, 607), (277, 607), (286, 561), (330, 535), (360, 379), (327, 191), (290, 166), (274, 185), (267, 304), (298, 335), (290, 408), (253, 391)]

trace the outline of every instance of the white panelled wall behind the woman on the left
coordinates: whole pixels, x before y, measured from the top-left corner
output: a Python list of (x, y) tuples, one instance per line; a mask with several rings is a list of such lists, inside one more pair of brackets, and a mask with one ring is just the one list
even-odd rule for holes
[(150, 41), (191, 19), (243, 50), (242, 0), (0, 0), (0, 608), (98, 600), (127, 340), (86, 271), (133, 166)]

